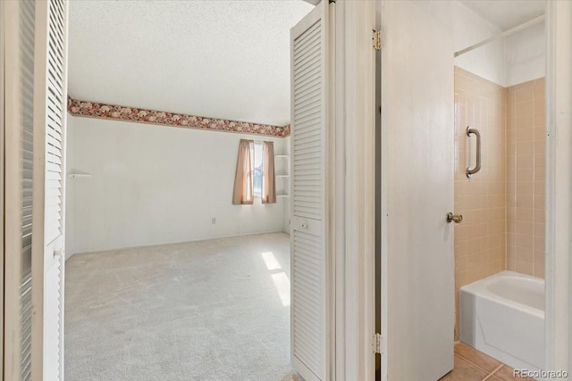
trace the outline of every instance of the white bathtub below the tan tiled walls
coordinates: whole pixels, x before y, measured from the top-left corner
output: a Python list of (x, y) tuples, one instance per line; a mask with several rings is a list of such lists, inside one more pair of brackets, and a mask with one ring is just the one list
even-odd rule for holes
[(460, 339), (514, 369), (544, 368), (544, 280), (512, 271), (460, 289)]

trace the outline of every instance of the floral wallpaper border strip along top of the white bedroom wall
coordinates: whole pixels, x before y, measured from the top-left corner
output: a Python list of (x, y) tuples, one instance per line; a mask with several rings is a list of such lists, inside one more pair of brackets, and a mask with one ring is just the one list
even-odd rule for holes
[(290, 136), (290, 124), (281, 127), (250, 123), (247, 121), (207, 118), (177, 112), (161, 112), (117, 104), (80, 101), (72, 99), (71, 96), (68, 96), (68, 112), (70, 112), (71, 115), (80, 117), (123, 120), (179, 128), (199, 128), (241, 134), (264, 135), (267, 137)]

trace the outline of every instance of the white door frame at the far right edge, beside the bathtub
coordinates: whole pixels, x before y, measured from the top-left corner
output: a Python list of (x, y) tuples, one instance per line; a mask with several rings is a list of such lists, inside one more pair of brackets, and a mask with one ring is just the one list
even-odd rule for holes
[(572, 3), (546, 2), (546, 369), (572, 366)]

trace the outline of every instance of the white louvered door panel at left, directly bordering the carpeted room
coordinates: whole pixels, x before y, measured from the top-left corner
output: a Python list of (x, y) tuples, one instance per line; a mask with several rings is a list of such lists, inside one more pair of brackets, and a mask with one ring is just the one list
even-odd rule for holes
[(32, 379), (63, 380), (67, 4), (36, 7)]

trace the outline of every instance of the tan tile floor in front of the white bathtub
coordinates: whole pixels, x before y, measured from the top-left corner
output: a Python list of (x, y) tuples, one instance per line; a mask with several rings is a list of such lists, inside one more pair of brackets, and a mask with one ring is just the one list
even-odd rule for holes
[(442, 377), (442, 381), (507, 381), (532, 380), (528, 377), (514, 377), (513, 369), (499, 360), (464, 344), (455, 344), (455, 369)]

